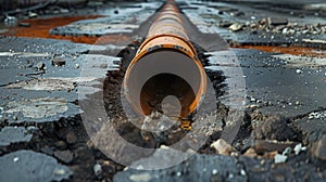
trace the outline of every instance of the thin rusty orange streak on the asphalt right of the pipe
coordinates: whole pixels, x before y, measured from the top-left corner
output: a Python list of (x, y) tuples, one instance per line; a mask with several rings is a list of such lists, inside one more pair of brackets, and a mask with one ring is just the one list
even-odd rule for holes
[(236, 46), (234, 48), (254, 49), (254, 50), (272, 52), (272, 53), (326, 57), (325, 51), (313, 49), (313, 48), (303, 48), (303, 47)]

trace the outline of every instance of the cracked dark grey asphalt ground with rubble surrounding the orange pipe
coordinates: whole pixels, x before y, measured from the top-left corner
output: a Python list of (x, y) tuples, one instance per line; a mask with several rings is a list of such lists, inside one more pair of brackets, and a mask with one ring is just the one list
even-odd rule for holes
[[(168, 145), (187, 133), (143, 134), (122, 108), (125, 68), (162, 2), (48, 6), (2, 16), (0, 181), (325, 181), (325, 2), (177, 2), (217, 99), (193, 126), (202, 146), (141, 170), (172, 160)], [(51, 26), (72, 16), (85, 18)], [(106, 115), (126, 141), (156, 150), (114, 160), (98, 147), (115, 139)]]

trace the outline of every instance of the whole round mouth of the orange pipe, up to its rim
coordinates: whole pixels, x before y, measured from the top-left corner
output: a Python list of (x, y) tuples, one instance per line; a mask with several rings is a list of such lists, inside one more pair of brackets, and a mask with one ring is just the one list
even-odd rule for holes
[[(172, 114), (167, 116), (185, 119), (195, 112), (191, 105), (198, 104), (196, 96), (202, 94), (201, 69), (183, 52), (173, 49), (150, 52), (127, 69), (124, 82), (126, 99), (139, 115), (148, 116), (156, 110), (164, 113), (162, 101), (168, 95), (174, 96), (172, 103), (177, 101), (180, 107), (167, 102), (172, 105), (167, 109)], [(163, 104), (163, 107), (167, 105)], [(176, 113), (179, 114), (176, 116)]]

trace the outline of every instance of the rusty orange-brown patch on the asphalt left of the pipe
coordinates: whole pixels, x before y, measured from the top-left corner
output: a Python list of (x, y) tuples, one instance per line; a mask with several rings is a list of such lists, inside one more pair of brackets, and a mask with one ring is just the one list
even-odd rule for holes
[(108, 35), (101, 37), (90, 36), (58, 36), (50, 35), (50, 29), (71, 24), (76, 21), (91, 20), (97, 17), (103, 17), (102, 15), (89, 15), (89, 16), (65, 16), (65, 17), (51, 17), (51, 18), (37, 18), (37, 20), (24, 20), (21, 23), (27, 23), (29, 27), (11, 27), (3, 36), (13, 37), (28, 37), (28, 38), (49, 38), (49, 39), (63, 39), (71, 40), (76, 43), (88, 44), (108, 44), (121, 42), (130, 42), (131, 38), (124, 35)]

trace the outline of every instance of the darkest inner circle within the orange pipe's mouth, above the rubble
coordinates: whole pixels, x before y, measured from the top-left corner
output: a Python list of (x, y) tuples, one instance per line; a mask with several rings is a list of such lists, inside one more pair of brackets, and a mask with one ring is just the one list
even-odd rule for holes
[(160, 112), (170, 117), (185, 117), (195, 98), (185, 79), (174, 74), (159, 74), (143, 84), (139, 102), (145, 115)]

